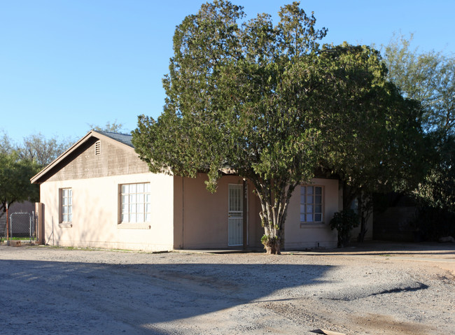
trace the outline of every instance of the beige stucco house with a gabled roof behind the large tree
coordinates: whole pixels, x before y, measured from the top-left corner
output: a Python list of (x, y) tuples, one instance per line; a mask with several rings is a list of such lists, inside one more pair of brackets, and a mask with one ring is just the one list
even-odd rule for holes
[[(260, 248), (260, 204), (251, 185), (226, 174), (211, 194), (204, 173), (151, 173), (131, 138), (90, 131), (31, 178), (40, 185), (43, 243), (150, 251)], [(335, 247), (337, 233), (328, 222), (341, 209), (340, 194), (337, 179), (297, 187), (284, 248)]]

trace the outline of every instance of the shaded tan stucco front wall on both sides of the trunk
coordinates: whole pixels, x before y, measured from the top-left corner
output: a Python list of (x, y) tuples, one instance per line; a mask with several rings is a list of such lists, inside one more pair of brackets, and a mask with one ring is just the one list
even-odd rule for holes
[[(174, 248), (228, 248), (228, 185), (241, 184), (237, 176), (223, 176), (217, 192), (207, 192), (200, 174), (197, 178), (174, 177)], [(314, 185), (324, 187), (324, 224), (300, 224), (300, 187), (290, 199), (285, 224), (286, 250), (304, 248), (333, 248), (337, 234), (328, 225), (333, 213), (339, 211), (338, 180), (314, 179)], [(260, 203), (248, 185), (248, 246), (262, 247), (264, 234), (260, 227)]]

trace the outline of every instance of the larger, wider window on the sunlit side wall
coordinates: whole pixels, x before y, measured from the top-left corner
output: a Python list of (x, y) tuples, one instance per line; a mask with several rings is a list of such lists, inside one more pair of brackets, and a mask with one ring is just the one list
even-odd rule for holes
[(120, 223), (150, 222), (150, 183), (120, 185)]

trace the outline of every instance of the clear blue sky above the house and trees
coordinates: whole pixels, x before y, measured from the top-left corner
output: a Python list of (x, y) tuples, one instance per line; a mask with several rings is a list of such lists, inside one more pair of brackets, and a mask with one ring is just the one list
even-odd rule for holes
[[(200, 0), (0, 0), (0, 134), (80, 138), (89, 124), (158, 117), (172, 36)], [(248, 17), (291, 1), (241, 0)], [(414, 34), (419, 50), (455, 52), (455, 1), (307, 0), (325, 43), (386, 44)]]

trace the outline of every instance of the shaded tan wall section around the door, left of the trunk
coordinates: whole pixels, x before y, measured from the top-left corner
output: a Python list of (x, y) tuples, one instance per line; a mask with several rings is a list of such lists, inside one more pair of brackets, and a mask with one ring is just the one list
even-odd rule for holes
[[(207, 191), (207, 175), (174, 177), (174, 248), (230, 248), (228, 245), (228, 187), (243, 183), (238, 176), (223, 176), (216, 193)], [(248, 185), (248, 246), (260, 246), (262, 228), (253, 187)], [(241, 248), (236, 247), (236, 248)]]

